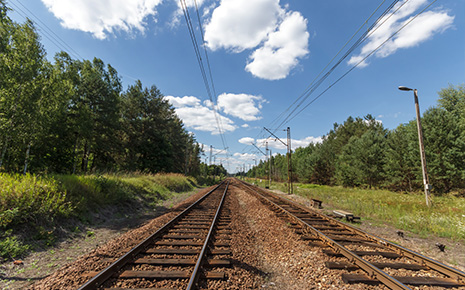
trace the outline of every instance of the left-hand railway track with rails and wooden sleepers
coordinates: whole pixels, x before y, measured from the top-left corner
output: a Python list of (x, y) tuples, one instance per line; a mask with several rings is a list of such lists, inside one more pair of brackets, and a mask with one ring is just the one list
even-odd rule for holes
[(200, 280), (224, 279), (231, 251), (224, 181), (104, 270), (90, 273), (79, 290), (196, 289)]

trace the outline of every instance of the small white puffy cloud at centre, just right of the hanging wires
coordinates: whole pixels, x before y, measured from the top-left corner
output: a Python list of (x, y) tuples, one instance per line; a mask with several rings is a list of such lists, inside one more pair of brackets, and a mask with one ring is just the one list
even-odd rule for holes
[(225, 114), (244, 121), (256, 121), (261, 119), (260, 109), (265, 101), (261, 96), (223, 93), (218, 96), (218, 107)]

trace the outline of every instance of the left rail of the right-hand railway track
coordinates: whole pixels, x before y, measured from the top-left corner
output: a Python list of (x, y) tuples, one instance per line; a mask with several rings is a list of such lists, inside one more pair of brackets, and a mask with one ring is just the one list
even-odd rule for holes
[[(253, 190), (253, 188), (251, 188), (249, 185), (247, 185), (245, 183), (244, 183), (244, 185), (247, 186), (249, 189)], [(292, 214), (291, 212), (289, 212), (288, 210), (286, 210), (285, 208), (283, 208), (279, 204), (275, 203), (274, 201), (270, 200), (268, 197), (264, 196), (260, 192), (255, 191), (255, 190), (253, 190), (253, 191), (258, 193), (268, 203), (272, 204), (274, 207), (278, 208), (280, 211), (286, 213), (287, 215), (289, 215), (293, 219), (299, 221), (299, 223), (305, 225), (312, 232), (314, 232), (321, 240), (323, 240), (324, 242), (326, 242), (326, 244), (328, 244), (330, 247), (332, 247), (337, 253), (341, 253), (347, 259), (349, 259), (349, 261), (356, 264), (361, 269), (363, 269), (365, 272), (367, 272), (370, 277), (376, 278), (378, 281), (380, 281), (381, 283), (383, 283), (384, 285), (388, 286), (391, 289), (395, 289), (395, 290), (397, 290), (397, 289), (403, 289), (403, 290), (411, 289), (408, 286), (406, 286), (405, 284), (401, 283), (399, 280), (397, 280), (394, 277), (388, 275), (383, 270), (375, 267), (374, 265), (369, 263), (367, 260), (361, 258), (360, 256), (356, 255), (355, 253), (352, 253), (350, 250), (348, 250), (343, 245), (341, 245), (338, 242), (334, 241), (333, 239), (331, 239), (330, 237), (328, 237), (327, 235), (325, 235), (321, 231), (317, 230), (316, 228), (314, 228), (313, 226), (311, 226), (310, 224), (308, 224), (307, 222), (305, 222), (301, 218), (295, 216), (294, 214)]]

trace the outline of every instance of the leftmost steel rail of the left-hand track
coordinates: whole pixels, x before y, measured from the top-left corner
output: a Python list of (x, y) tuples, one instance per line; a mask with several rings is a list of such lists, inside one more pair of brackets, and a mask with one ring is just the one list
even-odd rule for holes
[(106, 280), (108, 280), (113, 274), (118, 272), (124, 265), (126, 265), (128, 262), (132, 261), (135, 256), (137, 256), (139, 253), (141, 253), (144, 249), (146, 249), (154, 239), (158, 238), (161, 234), (163, 234), (169, 227), (171, 227), (175, 222), (177, 222), (180, 218), (184, 217), (189, 211), (192, 210), (194, 206), (202, 202), (204, 199), (206, 199), (212, 192), (218, 189), (225, 181), (222, 181), (220, 184), (215, 186), (212, 190), (207, 192), (204, 196), (202, 196), (199, 200), (191, 204), (189, 207), (187, 207), (185, 210), (183, 210), (180, 214), (178, 214), (176, 217), (174, 217), (172, 220), (170, 220), (168, 223), (166, 223), (163, 227), (158, 229), (155, 233), (150, 235), (148, 238), (146, 238), (144, 241), (139, 243), (137, 246), (129, 250), (126, 254), (124, 254), (121, 258), (113, 262), (111, 265), (100, 271), (97, 275), (95, 275), (92, 279), (87, 281), (84, 285), (78, 288), (78, 290), (93, 290), (98, 288), (100, 285), (102, 285)]

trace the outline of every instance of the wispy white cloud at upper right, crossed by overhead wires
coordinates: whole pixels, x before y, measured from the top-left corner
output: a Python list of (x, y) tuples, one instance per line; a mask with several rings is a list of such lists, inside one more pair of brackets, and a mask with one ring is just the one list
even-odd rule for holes
[[(348, 64), (353, 65), (361, 62), (391, 35), (411, 21), (427, 2), (427, 0), (410, 0), (407, 3), (405, 1), (397, 3), (393, 11), (405, 4), (395, 14), (388, 14), (380, 21), (379, 27), (368, 37), (361, 52), (351, 57)], [(454, 18), (445, 10), (424, 12), (388, 40), (374, 55), (384, 58), (395, 53), (398, 49), (418, 46), (435, 34), (442, 33), (452, 27)], [(365, 67), (367, 65), (366, 61), (362, 61), (359, 66)]]

